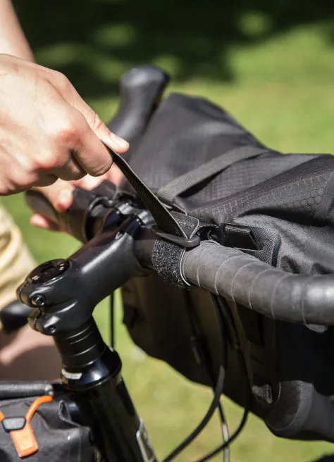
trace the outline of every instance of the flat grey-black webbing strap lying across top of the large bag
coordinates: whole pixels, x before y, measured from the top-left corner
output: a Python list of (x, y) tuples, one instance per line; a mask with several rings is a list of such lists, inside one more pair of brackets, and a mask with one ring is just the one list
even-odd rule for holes
[(243, 161), (247, 158), (259, 156), (266, 152), (270, 151), (267, 148), (261, 149), (258, 146), (241, 146), (232, 149), (202, 164), (202, 166), (194, 168), (194, 170), (175, 178), (175, 180), (172, 180), (159, 189), (158, 196), (165, 204), (172, 204), (176, 196), (198, 185), (200, 182), (207, 180), (212, 175), (220, 173), (231, 164)]

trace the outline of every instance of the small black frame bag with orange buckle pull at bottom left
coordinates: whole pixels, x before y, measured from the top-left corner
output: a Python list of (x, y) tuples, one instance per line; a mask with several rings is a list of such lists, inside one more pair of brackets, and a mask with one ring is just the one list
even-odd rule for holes
[(89, 427), (49, 383), (1, 382), (0, 461), (95, 462)]

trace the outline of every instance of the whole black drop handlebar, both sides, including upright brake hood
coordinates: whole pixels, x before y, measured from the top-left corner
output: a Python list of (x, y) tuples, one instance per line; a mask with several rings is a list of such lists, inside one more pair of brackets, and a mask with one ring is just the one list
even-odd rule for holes
[[(159, 72), (151, 67), (137, 68), (121, 81), (120, 110), (109, 127), (130, 142), (144, 132), (166, 86), (168, 79)], [(119, 207), (124, 200), (117, 202), (113, 199), (113, 187), (104, 186), (109, 192), (103, 187), (93, 192), (75, 192), (73, 206), (63, 214), (56, 213), (39, 193), (28, 192), (27, 202), (34, 211), (61, 223), (70, 234), (87, 241), (104, 228), (109, 208), (113, 207), (114, 212), (118, 210), (118, 216), (121, 214)], [(106, 204), (108, 197), (110, 202)], [(131, 206), (130, 199), (127, 200), (125, 203)], [(113, 213), (114, 219), (115, 216)], [(100, 220), (99, 226), (94, 225), (97, 220)], [(145, 226), (149, 233), (149, 227)], [(154, 240), (156, 236), (151, 234), (149, 239), (142, 239), (131, 248), (131, 251), (137, 249), (137, 257), (144, 260), (146, 266), (151, 266), (149, 252)], [(131, 257), (124, 254), (124, 258)], [(285, 273), (240, 250), (208, 241), (185, 251), (180, 270), (183, 280), (190, 285), (225, 296), (265, 316), (293, 323), (334, 324), (334, 275)]]

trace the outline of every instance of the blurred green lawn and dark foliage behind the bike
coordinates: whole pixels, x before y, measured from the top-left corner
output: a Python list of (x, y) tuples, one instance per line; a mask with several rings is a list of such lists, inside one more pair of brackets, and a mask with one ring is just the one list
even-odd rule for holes
[[(329, 2), (18, 0), (16, 8), (39, 63), (66, 73), (104, 120), (117, 106), (120, 74), (132, 65), (155, 63), (173, 77), (168, 92), (221, 104), (272, 148), (333, 152)], [(37, 261), (68, 256), (78, 248), (68, 236), (32, 229), (22, 196), (4, 203)], [(95, 316), (107, 339), (105, 302)], [(210, 392), (137, 349), (122, 326), (119, 301), (116, 335), (128, 388), (162, 457), (200, 420)], [(224, 401), (233, 429), (241, 411)], [(215, 418), (178, 460), (192, 461), (215, 447), (220, 436)], [(277, 439), (254, 417), (231, 450), (234, 462), (313, 462), (332, 451), (321, 442)]]

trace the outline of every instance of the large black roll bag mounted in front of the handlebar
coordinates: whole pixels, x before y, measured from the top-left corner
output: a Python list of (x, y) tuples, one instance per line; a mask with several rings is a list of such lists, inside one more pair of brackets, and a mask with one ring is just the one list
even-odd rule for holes
[[(171, 94), (128, 160), (168, 207), (198, 218), (208, 238), (287, 273), (334, 272), (334, 157), (283, 155), (223, 109)], [(209, 385), (193, 339), (194, 332), (204, 339), (217, 367), (224, 345), (211, 294), (178, 289), (159, 276), (131, 280), (122, 290), (124, 322), (135, 343)], [(334, 442), (333, 327), (295, 325), (221, 302), (224, 393), (245, 406), (249, 383), (251, 410), (275, 435)]]

